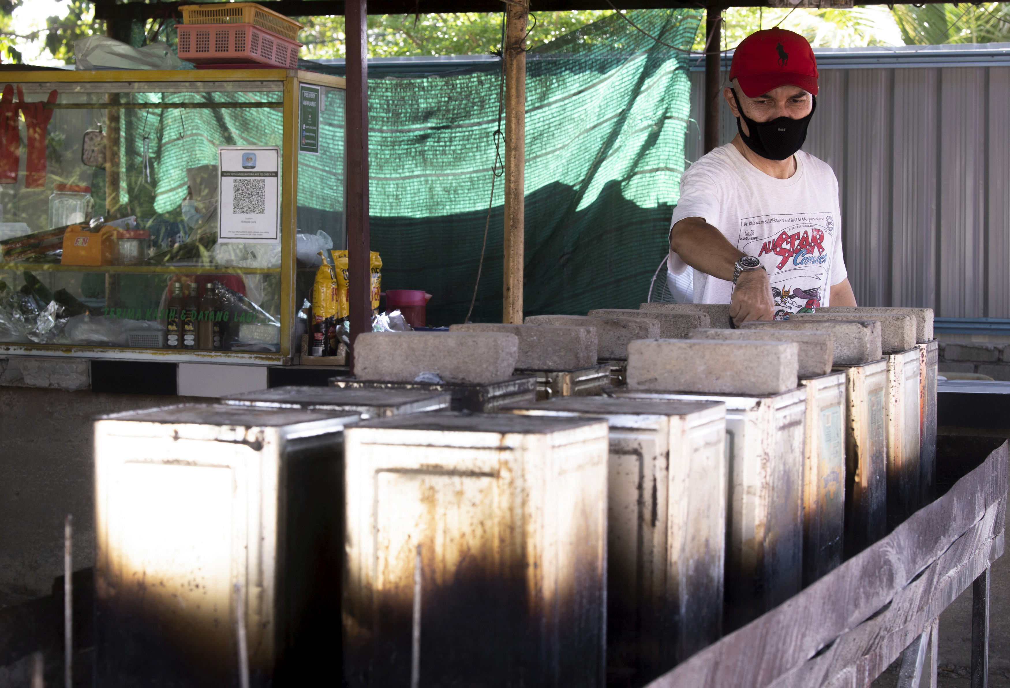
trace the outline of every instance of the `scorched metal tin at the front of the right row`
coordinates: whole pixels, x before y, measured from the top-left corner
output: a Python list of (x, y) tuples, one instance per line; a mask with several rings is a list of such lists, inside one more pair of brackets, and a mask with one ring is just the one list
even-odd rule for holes
[(607, 422), (346, 431), (343, 685), (602, 686)]

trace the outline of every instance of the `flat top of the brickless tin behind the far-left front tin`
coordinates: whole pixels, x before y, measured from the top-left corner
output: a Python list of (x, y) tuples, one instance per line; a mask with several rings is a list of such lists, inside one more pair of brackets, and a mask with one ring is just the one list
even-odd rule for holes
[(221, 398), (221, 403), (232, 406), (346, 411), (359, 413), (363, 418), (447, 411), (450, 401), (448, 392), (300, 386), (272, 387)]

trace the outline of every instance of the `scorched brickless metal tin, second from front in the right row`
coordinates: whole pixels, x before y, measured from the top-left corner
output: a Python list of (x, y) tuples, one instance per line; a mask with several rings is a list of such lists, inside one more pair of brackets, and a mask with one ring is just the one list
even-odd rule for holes
[(726, 407), (715, 401), (553, 399), (524, 415), (610, 424), (607, 670), (640, 685), (722, 635)]

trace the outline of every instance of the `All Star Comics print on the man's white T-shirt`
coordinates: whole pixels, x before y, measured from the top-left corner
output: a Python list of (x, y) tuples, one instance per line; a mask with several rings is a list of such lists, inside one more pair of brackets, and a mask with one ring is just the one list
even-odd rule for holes
[(821, 293), (834, 245), (834, 215), (802, 213), (761, 215), (740, 220), (737, 248), (756, 256), (768, 270), (775, 316), (809, 313), (821, 305)]

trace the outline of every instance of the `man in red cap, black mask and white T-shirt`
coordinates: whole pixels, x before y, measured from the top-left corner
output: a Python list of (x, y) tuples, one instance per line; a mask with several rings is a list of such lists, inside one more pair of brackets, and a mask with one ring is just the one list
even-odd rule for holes
[(802, 151), (817, 107), (806, 38), (770, 28), (733, 54), (723, 96), (737, 134), (681, 178), (670, 271), (694, 269), (695, 303), (729, 303), (736, 324), (854, 306), (841, 256), (838, 181)]

